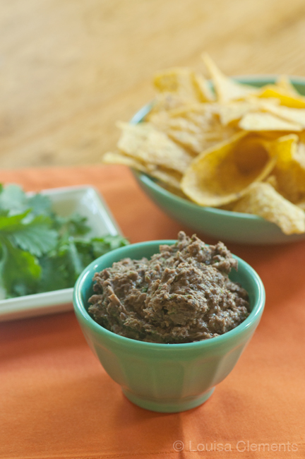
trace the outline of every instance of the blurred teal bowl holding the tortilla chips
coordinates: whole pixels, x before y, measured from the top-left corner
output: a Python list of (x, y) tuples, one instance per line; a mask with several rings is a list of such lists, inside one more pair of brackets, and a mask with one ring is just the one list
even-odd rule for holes
[[(249, 76), (237, 78), (241, 83), (257, 87), (274, 83), (275, 76)], [(291, 78), (294, 87), (300, 94), (305, 95), (305, 78)], [(146, 105), (131, 119), (132, 124), (138, 124), (150, 111), (151, 105)], [(187, 199), (170, 193), (162, 188), (157, 180), (146, 174), (133, 171), (141, 189), (167, 215), (195, 229), (197, 232), (208, 234), (225, 242), (240, 244), (282, 244), (305, 239), (304, 234), (284, 234), (275, 223), (268, 222), (256, 215), (231, 212), (191, 203)]]

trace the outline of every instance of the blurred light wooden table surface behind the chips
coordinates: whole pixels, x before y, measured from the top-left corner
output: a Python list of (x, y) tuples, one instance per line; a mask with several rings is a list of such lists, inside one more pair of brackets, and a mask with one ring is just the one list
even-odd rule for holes
[(0, 6), (0, 167), (83, 165), (207, 51), (229, 75), (305, 76), (304, 0), (11, 0)]

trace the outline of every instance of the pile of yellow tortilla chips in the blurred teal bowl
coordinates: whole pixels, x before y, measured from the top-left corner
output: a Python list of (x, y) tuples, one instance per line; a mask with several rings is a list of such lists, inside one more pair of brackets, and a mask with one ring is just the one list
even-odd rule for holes
[(140, 124), (119, 123), (118, 150), (103, 162), (150, 174), (198, 205), (304, 233), (305, 97), (285, 76), (256, 88), (203, 60), (212, 85), (191, 68), (155, 75), (150, 113)]

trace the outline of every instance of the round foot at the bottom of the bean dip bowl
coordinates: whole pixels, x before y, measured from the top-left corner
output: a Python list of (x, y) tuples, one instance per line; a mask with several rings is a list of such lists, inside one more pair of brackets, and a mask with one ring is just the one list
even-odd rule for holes
[(122, 389), (124, 395), (135, 405), (138, 405), (145, 410), (157, 411), (162, 413), (177, 413), (181, 411), (191, 410), (196, 408), (208, 400), (213, 394), (215, 388), (213, 387), (210, 391), (207, 391), (196, 397), (187, 397), (185, 400), (179, 398), (179, 400), (173, 400), (165, 398), (164, 400), (150, 400), (148, 398), (139, 397), (138, 395)]

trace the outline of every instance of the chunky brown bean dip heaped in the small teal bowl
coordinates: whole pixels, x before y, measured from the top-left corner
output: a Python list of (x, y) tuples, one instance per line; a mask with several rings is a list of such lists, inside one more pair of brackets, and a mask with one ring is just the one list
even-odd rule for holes
[(228, 274), (237, 260), (218, 242), (179, 232), (150, 260), (124, 258), (95, 273), (89, 313), (134, 340), (181, 343), (222, 335), (249, 316), (246, 290)]

